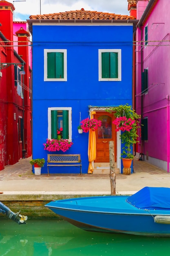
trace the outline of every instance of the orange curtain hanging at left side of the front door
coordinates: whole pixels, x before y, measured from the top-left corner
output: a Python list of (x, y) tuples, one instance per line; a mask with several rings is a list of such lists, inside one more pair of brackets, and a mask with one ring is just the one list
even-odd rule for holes
[[(95, 111), (90, 113), (90, 119), (92, 116), (96, 114)], [(93, 165), (92, 162), (96, 159), (96, 134), (95, 131), (89, 130), (88, 135), (88, 173), (93, 173)]]

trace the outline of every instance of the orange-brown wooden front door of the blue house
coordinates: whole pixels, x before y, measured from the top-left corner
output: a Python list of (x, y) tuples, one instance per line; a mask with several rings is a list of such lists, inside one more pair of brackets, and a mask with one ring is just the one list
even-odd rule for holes
[(114, 141), (116, 162), (116, 131), (114, 115), (108, 112), (96, 112), (94, 118), (102, 121), (102, 126), (96, 130), (96, 159), (94, 162), (109, 162), (109, 141)]

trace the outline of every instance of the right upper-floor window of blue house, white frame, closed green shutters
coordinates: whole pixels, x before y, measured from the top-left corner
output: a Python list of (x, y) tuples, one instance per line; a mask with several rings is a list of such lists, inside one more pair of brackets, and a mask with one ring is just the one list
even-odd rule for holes
[(99, 49), (99, 81), (121, 81), (121, 49)]

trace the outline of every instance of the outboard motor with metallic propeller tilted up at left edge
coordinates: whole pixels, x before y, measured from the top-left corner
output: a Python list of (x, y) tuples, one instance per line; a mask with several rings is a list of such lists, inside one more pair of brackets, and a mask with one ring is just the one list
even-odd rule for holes
[(14, 213), (11, 211), (11, 209), (9, 209), (9, 207), (2, 204), (2, 202), (0, 202), (0, 213), (5, 214), (7, 218), (17, 222), (18, 224), (26, 224), (25, 220), (28, 219), (27, 216), (19, 214), (20, 212)]

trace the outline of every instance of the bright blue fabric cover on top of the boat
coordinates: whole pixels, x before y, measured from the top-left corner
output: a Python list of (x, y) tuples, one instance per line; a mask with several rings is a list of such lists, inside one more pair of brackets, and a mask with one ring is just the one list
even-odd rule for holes
[(126, 199), (138, 209), (170, 210), (170, 188), (144, 187)]

